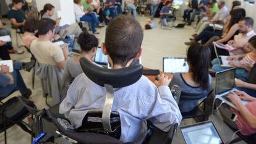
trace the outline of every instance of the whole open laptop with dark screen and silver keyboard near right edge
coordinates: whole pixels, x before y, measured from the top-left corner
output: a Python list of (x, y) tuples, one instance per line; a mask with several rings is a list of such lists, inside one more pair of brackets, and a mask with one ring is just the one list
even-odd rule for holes
[[(228, 104), (232, 108), (238, 110), (236, 106), (229, 100), (228, 94), (230, 91), (237, 91), (234, 88), (236, 68), (223, 70), (216, 72), (215, 76), (215, 98), (220, 99), (224, 103)], [(248, 101), (242, 100), (243, 104), (247, 104)]]

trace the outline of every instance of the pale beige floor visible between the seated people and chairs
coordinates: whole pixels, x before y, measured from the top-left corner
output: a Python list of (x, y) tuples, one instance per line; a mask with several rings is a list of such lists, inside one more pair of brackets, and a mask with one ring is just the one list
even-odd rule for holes
[[(142, 27), (147, 23), (148, 17), (138, 17), (138, 20)], [(158, 23), (159, 19), (155, 19), (154, 22)], [(4, 20), (9, 24), (8, 20)], [(176, 22), (175, 24), (177, 24)], [(10, 27), (6, 27), (10, 28)], [(106, 27), (105, 27), (106, 28)], [(100, 35), (96, 35), (100, 41), (104, 41), (105, 39), (105, 28), (101, 28), (98, 30)], [(162, 70), (162, 57), (176, 56), (176, 57), (185, 57), (186, 49), (184, 42), (189, 40), (190, 35), (194, 33), (194, 28), (185, 27), (185, 28), (173, 28), (172, 30), (163, 30), (158, 25), (157, 28), (153, 30), (145, 30), (144, 31), (144, 39), (143, 39), (143, 54), (142, 54), (142, 64), (145, 67), (149, 67), (151, 69), (160, 69)], [(12, 30), (12, 39), (15, 41), (15, 33)], [(13, 44), (15, 46), (15, 42)], [(25, 48), (22, 48), (25, 50)], [(12, 54), (12, 59), (16, 61), (27, 62), (30, 60), (30, 54), (27, 52), (22, 55)], [(28, 88), (32, 89), (32, 72), (25, 72), (23, 70), (20, 71), (23, 79)], [(32, 90), (32, 96), (30, 100), (34, 101), (38, 109), (47, 108), (45, 104), (45, 98), (42, 96), (41, 86), (39, 79), (35, 78), (35, 89)], [(20, 95), (19, 92), (15, 92), (12, 96)], [(49, 100), (49, 103), (51, 101)], [(191, 124), (192, 121), (183, 121), (184, 124)], [(0, 144), (4, 143), (3, 133), (0, 133)], [(20, 127), (14, 126), (11, 129), (7, 130), (8, 144), (14, 143), (30, 143), (30, 135)]]

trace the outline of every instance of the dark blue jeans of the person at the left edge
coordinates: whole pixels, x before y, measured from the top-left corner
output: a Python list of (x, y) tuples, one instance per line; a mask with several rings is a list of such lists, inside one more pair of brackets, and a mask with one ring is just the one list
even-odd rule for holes
[(19, 90), (22, 95), (28, 93), (28, 88), (26, 87), (22, 75), (20, 75), (20, 69), (22, 67), (21, 62), (14, 62), (14, 72), (12, 72), (12, 77), (14, 77), (14, 84), (7, 85), (6, 87), (0, 87), (0, 97), (7, 97), (11, 95), (15, 90)]

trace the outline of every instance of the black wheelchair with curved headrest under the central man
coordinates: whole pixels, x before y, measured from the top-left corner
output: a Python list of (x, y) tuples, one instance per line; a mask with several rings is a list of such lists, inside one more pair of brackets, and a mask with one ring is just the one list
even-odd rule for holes
[[(143, 72), (142, 65), (134, 65), (123, 69), (104, 69), (92, 64), (85, 57), (80, 59), (80, 65), (85, 75), (97, 85), (101, 85), (106, 88), (106, 100), (102, 110), (92, 109), (85, 115), (85, 123), (83, 121), (82, 127), (74, 129), (70, 127), (69, 120), (64, 115), (59, 114), (59, 104), (49, 109), (38, 110), (36, 114), (36, 128), (35, 138), (33, 143), (46, 143), (53, 142), (53, 133), (44, 133), (43, 119), (48, 122), (52, 122), (59, 135), (65, 135), (77, 143), (90, 143), (90, 144), (110, 144), (110, 143), (123, 143), (119, 140), (121, 135), (121, 121), (119, 112), (111, 111), (114, 101), (114, 88), (127, 87), (137, 82), (140, 79)], [(120, 79), (122, 78), (122, 81)], [(173, 88), (172, 88), (173, 89)], [(171, 90), (176, 97), (179, 98), (181, 90), (179, 87), (175, 87)], [(28, 108), (29, 109), (29, 108)], [(148, 122), (149, 124), (149, 122)], [(148, 135), (143, 143), (171, 143), (176, 133), (178, 124), (171, 125), (169, 132), (163, 132), (154, 125), (150, 125), (148, 128)], [(45, 135), (46, 138), (43, 137)], [(132, 142), (126, 142), (132, 143)]]

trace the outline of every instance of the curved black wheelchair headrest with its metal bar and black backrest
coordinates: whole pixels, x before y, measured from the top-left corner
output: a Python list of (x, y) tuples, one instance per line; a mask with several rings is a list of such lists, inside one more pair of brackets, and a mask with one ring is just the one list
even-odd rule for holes
[[(98, 67), (85, 57), (80, 59), (83, 73), (97, 85), (106, 88), (106, 99), (103, 111), (91, 110), (85, 116), (81, 131), (109, 133), (119, 138), (121, 122), (118, 112), (111, 112), (114, 101), (114, 88), (127, 87), (137, 82), (142, 77), (142, 65), (134, 65), (122, 69), (105, 69)], [(99, 124), (100, 123), (100, 124)], [(92, 125), (89, 127), (88, 125)]]

